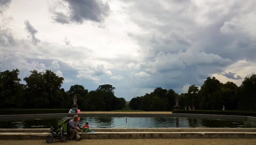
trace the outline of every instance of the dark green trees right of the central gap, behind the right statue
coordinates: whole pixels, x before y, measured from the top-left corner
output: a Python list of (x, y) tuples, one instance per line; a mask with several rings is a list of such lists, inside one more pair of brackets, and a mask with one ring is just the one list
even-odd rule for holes
[(256, 110), (256, 74), (245, 77), (240, 86), (207, 77), (200, 89), (191, 85), (187, 93), (155, 88), (150, 94), (132, 98), (129, 106), (134, 110), (172, 111), (176, 97), (181, 109), (194, 106), (200, 110), (221, 110), (224, 105), (226, 110)]

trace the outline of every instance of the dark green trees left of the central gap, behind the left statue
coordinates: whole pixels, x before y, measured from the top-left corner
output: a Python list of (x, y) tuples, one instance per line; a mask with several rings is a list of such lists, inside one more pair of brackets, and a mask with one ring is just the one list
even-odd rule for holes
[(71, 108), (73, 96), (82, 111), (113, 111), (122, 109), (126, 101), (114, 95), (115, 87), (99, 85), (88, 92), (82, 85), (72, 85), (68, 91), (61, 88), (64, 78), (53, 71), (30, 71), (21, 84), (18, 69), (0, 72), (0, 108)]

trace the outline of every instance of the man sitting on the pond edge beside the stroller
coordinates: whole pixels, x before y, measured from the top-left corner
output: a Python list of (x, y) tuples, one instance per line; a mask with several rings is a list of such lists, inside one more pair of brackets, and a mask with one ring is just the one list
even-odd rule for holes
[(81, 132), (80, 129), (83, 129), (80, 127), (80, 125), (77, 122), (78, 120), (78, 115), (75, 115), (72, 120), (70, 120), (69, 125), (70, 125), (70, 139), (73, 139), (74, 136), (76, 136), (76, 140), (79, 141), (83, 139), (83, 136), (80, 137), (79, 132)]

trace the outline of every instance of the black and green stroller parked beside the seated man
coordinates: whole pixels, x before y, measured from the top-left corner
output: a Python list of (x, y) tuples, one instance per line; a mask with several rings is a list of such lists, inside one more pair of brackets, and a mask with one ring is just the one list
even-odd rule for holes
[(59, 122), (55, 128), (53, 128), (51, 126), (51, 130), (48, 132), (49, 134), (46, 136), (46, 142), (52, 143), (53, 138), (61, 139), (61, 142), (66, 142), (67, 137), (64, 134), (65, 133), (69, 134), (69, 130), (70, 130), (69, 121), (70, 120), (71, 120), (71, 118), (65, 119), (65, 120)]

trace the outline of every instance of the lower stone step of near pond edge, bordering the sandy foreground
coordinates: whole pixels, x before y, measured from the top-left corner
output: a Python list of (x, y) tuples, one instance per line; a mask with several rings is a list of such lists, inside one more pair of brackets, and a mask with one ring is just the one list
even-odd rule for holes
[[(46, 139), (47, 134), (0, 133), (0, 140)], [(115, 132), (80, 134), (84, 139), (256, 138), (252, 132)], [(59, 139), (54, 139), (58, 141)], [(68, 142), (68, 141), (67, 141)]]

